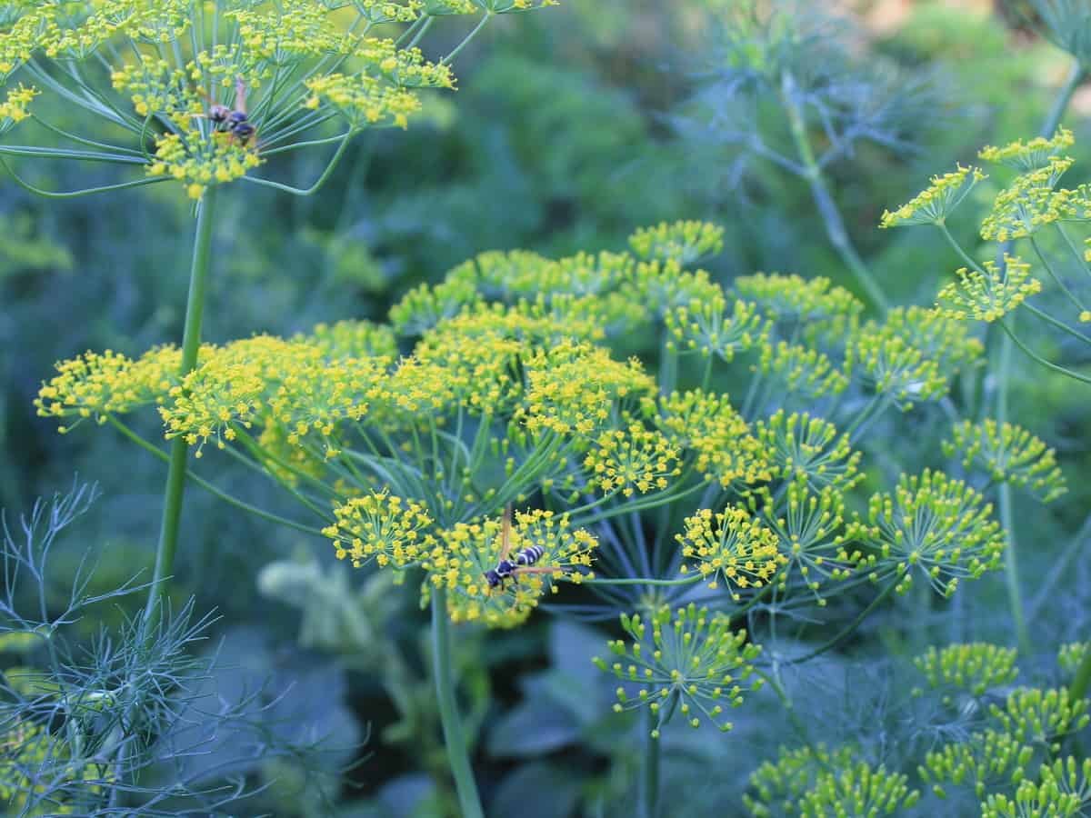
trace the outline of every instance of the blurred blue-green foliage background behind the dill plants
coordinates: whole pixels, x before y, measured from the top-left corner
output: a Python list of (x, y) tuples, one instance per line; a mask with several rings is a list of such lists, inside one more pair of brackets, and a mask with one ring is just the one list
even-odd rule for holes
[[(927, 107), (899, 127), (897, 145), (862, 139), (831, 161), (830, 190), (887, 292), (898, 303), (927, 304), (956, 257), (935, 231), (878, 230), (879, 215), (932, 173), (971, 161), (981, 145), (1036, 133), (1067, 58), (1018, 16), (987, 4), (884, 2), (852, 12), (858, 27), (832, 47), (868, 71), (882, 67), (926, 87)], [(205, 337), (381, 320), (407, 289), (478, 252), (621, 249), (635, 228), (664, 219), (727, 228), (726, 250), (709, 265), (722, 281), (776, 270), (854, 288), (806, 183), (726, 143), (716, 128), (695, 124), (690, 100), (717, 59), (706, 13), (705, 3), (687, 0), (564, 0), (546, 13), (505, 19), (460, 56), (456, 94), (430, 98), (407, 132), (360, 139), (320, 195), (232, 188), (220, 199)], [(457, 43), (456, 28), (441, 35), (446, 45)], [(1091, 98), (1077, 95), (1066, 118), (1077, 157), (1088, 110)], [(758, 100), (745, 116), (767, 144), (787, 146), (772, 106)], [(61, 124), (64, 117), (49, 112)], [(302, 181), (322, 158), (271, 165), (278, 178)], [(67, 189), (111, 181), (108, 172), (93, 180), (85, 168), (59, 165), (36, 166), (32, 176)], [(984, 191), (971, 209), (987, 201)], [(968, 216), (952, 226), (968, 245), (976, 241), (974, 224)], [(172, 185), (45, 202), (0, 183), (0, 506), (26, 508), (70, 484), (74, 472), (96, 482), (101, 498), (68, 538), (65, 554), (74, 563), (94, 543), (95, 581), (104, 588), (151, 564), (160, 464), (107, 430), (60, 436), (35, 417), (32, 400), (58, 359), (85, 349), (140, 353), (180, 336), (192, 227), (189, 203)], [(1024, 572), (1042, 582), (1075, 553), (1072, 533), (1089, 500), (1081, 479), (1091, 468), (1086, 402), (1081, 390), (1041, 370), (1024, 369), (1017, 381), (1014, 419), (1058, 448), (1071, 486), (1057, 507), (1028, 504), (1018, 515), (1029, 550)], [(897, 458), (897, 443), (887, 454)], [(245, 474), (216, 477), (275, 508), (275, 495)], [(361, 585), (331, 565), (325, 542), (274, 531), (200, 491), (191, 489), (187, 502), (173, 592), (179, 600), (195, 594), (199, 610), (221, 616), (215, 633), (236, 667), (226, 673), (271, 675), (290, 687), (288, 720), (326, 724), (349, 748), (331, 770), (359, 761), (344, 777), (317, 781), (280, 762), (255, 770), (275, 783), (254, 799), (254, 811), (449, 814), (415, 594), (403, 598), (382, 578)], [(1050, 645), (1079, 636), (1088, 623), (1078, 612), (1091, 610), (1081, 561), (1060, 565), (1067, 574), (1043, 586), (1053, 589), (1047, 598), (1035, 598), (1036, 581), (1028, 589), (1035, 633)], [(952, 638), (1006, 640), (1003, 614), (990, 613), (1003, 611), (1002, 582), (959, 596)], [(107, 621), (122, 614), (103, 611)], [(609, 682), (586, 661), (601, 643), (601, 634), (548, 616), (517, 633), (460, 636), (490, 815), (628, 814), (634, 725), (610, 712)], [(321, 713), (291, 703), (319, 707), (319, 690)], [(818, 701), (825, 715), (816, 718), (832, 720), (841, 707)], [(740, 814), (732, 794), (783, 735), (774, 710), (758, 708), (748, 719), (732, 736), (702, 733), (669, 753), (666, 803), (684, 805), (672, 815)]]

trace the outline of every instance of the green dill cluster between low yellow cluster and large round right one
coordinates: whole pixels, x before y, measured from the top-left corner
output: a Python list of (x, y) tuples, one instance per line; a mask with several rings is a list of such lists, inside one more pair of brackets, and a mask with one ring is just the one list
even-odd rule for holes
[(788, 590), (798, 576), (818, 606), (825, 608), (823, 587), (827, 580), (848, 579), (861, 560), (859, 552), (850, 553), (846, 548), (844, 496), (832, 486), (814, 491), (805, 480), (795, 479), (787, 484), (782, 497), (760, 491), (752, 496), (751, 506), (777, 536), (783, 563), (778, 575), (780, 588)]

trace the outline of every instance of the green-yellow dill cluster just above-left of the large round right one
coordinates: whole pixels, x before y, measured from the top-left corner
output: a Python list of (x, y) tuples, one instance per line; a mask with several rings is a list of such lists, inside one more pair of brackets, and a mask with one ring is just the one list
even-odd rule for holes
[(815, 489), (834, 486), (841, 491), (859, 483), (859, 452), (849, 435), (838, 435), (837, 426), (807, 412), (775, 414), (754, 426), (754, 435), (765, 447), (771, 472), (781, 480), (802, 479)]

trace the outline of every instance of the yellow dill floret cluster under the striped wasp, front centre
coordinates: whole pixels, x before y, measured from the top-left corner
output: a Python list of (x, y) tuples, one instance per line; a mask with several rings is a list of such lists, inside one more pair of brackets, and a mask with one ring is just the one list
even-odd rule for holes
[(541, 508), (516, 512), (509, 531), (507, 558), (530, 548), (541, 549), (532, 569), (516, 568), (500, 588), (490, 589), (485, 574), (504, 552), (503, 525), (487, 517), (457, 522), (439, 532), (425, 555), (429, 582), (447, 588), (447, 612), (453, 622), (482, 622), (489, 627), (513, 627), (524, 622), (547, 589), (558, 581), (578, 584), (594, 578), (588, 570), (598, 540), (573, 528), (567, 515)]

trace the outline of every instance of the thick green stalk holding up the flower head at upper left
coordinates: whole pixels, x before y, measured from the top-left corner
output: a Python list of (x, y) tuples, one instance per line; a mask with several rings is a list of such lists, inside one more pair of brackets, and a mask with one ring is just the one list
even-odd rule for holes
[[(208, 267), (212, 258), (212, 228), (216, 203), (216, 188), (208, 188), (197, 210), (196, 234), (193, 240), (193, 261), (190, 267), (190, 291), (185, 301), (185, 329), (182, 333), (181, 375), (185, 375), (197, 362), (201, 348), (201, 317), (204, 313), (205, 289), (208, 284)], [(175, 552), (178, 550), (178, 527), (182, 518), (182, 492), (185, 489), (185, 460), (189, 445), (181, 436), (170, 444), (170, 465), (167, 484), (163, 493), (163, 520), (159, 525), (159, 544), (155, 552), (155, 573), (148, 591), (146, 619), (156, 614), (159, 602), (167, 593), (167, 577), (175, 568)]]

